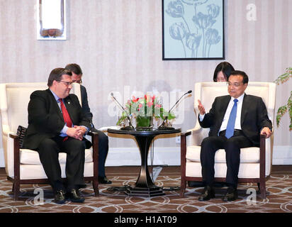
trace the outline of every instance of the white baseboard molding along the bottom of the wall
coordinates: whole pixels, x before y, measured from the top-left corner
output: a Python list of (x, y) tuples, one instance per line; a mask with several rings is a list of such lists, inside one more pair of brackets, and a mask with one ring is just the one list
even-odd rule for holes
[[(148, 165), (151, 165), (151, 153)], [(138, 148), (109, 148), (106, 166), (141, 165)], [(155, 148), (153, 165), (181, 165), (179, 147)], [(273, 165), (292, 165), (292, 145), (274, 146)], [(5, 167), (3, 148), (0, 149), (0, 167)]]

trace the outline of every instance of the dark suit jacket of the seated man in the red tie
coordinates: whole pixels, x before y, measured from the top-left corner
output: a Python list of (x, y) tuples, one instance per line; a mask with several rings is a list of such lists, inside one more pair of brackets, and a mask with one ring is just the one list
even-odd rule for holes
[[(89, 119), (82, 113), (76, 95), (69, 94), (64, 99), (64, 104), (74, 126), (90, 128)], [(28, 103), (28, 129), (23, 139), (23, 147), (35, 150), (45, 138), (60, 135), (64, 124), (62, 112), (50, 89), (33, 92)], [(86, 148), (88, 147), (90, 142), (87, 140)]]

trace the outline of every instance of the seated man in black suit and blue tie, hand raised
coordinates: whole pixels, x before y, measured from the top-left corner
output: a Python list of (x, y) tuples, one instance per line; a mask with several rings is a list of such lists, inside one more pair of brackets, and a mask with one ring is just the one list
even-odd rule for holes
[(240, 167), (240, 148), (259, 147), (259, 134), (271, 135), (272, 125), (262, 98), (245, 94), (248, 84), (245, 72), (233, 71), (228, 79), (227, 96), (215, 98), (209, 113), (198, 100), (198, 121), (210, 128), (209, 136), (201, 144), (203, 182), (206, 184), (198, 200), (215, 197), (213, 189), (214, 157), (219, 149), (226, 152), (226, 183), (228, 190), (223, 201), (237, 199), (237, 175)]

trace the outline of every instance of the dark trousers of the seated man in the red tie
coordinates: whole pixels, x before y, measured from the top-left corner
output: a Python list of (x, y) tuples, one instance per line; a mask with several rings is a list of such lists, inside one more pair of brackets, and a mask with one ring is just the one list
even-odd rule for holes
[(59, 153), (67, 153), (66, 160), (66, 188), (68, 191), (71, 189), (79, 189), (84, 187), (84, 151), (86, 143), (84, 140), (80, 141), (74, 138), (68, 138), (63, 142), (63, 138), (56, 136), (55, 138), (47, 138), (43, 140), (37, 151), (40, 155), (40, 162), (47, 178), (50, 180), (52, 188), (57, 191), (65, 189), (62, 177), (61, 167), (58, 160)]

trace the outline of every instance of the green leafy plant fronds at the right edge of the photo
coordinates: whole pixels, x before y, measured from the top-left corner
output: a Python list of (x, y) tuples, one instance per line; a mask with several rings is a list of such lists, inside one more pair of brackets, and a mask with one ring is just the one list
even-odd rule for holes
[[(286, 69), (286, 72), (284, 74), (281, 74), (274, 82), (276, 84), (283, 84), (284, 82), (287, 82), (292, 77), (292, 67), (288, 67)], [(276, 124), (279, 126), (279, 123), (281, 121), (282, 116), (288, 111), (288, 114), (290, 116), (290, 126), (289, 129), (292, 131), (292, 91), (290, 93), (290, 97), (288, 98), (288, 101), (285, 105), (280, 106), (277, 115), (276, 115)]]

